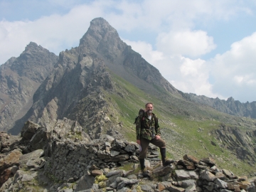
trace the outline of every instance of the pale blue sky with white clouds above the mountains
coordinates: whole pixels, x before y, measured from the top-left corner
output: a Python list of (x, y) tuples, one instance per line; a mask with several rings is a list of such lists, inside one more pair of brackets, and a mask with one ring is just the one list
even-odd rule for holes
[(256, 101), (255, 0), (0, 0), (0, 65), (30, 42), (75, 48), (97, 17), (176, 89)]

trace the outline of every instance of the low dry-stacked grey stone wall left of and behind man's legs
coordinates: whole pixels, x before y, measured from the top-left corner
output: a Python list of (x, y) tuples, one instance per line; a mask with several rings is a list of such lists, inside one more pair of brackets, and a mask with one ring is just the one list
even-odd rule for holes
[[(139, 145), (135, 142), (124, 142), (110, 136), (88, 144), (62, 139), (53, 144), (53, 154), (46, 163), (45, 171), (59, 181), (76, 181), (85, 174), (101, 175), (102, 169), (138, 163), (138, 149)], [(156, 154), (157, 148), (151, 147), (151, 161), (156, 161)]]

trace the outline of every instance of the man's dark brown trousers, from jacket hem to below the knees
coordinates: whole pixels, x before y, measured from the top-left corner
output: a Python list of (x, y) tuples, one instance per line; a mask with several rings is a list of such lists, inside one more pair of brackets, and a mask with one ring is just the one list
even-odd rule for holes
[(139, 159), (146, 158), (146, 151), (148, 150), (149, 143), (154, 144), (159, 148), (166, 146), (163, 139), (154, 138), (154, 139), (148, 140), (148, 139), (141, 138), (140, 141), (141, 141), (142, 151), (139, 152)]

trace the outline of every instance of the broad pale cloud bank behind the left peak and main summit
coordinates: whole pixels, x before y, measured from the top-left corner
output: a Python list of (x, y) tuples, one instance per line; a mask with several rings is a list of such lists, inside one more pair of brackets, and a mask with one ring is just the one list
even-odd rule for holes
[(90, 21), (102, 15), (101, 7), (77, 6), (68, 14), (43, 16), (36, 21), (0, 21), (0, 63), (18, 56), (29, 42), (58, 53), (78, 46)]

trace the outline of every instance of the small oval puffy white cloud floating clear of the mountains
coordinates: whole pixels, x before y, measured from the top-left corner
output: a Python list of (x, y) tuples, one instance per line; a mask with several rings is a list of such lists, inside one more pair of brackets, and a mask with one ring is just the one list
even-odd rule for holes
[(198, 57), (216, 48), (213, 37), (206, 31), (171, 31), (160, 33), (157, 48), (166, 54)]

